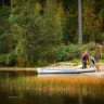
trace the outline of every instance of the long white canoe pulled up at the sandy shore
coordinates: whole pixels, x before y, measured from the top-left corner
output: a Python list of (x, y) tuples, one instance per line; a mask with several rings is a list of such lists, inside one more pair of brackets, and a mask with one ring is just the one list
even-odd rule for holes
[(76, 68), (76, 69), (46, 69), (38, 67), (38, 74), (78, 74), (78, 73), (92, 73), (96, 72), (96, 66), (89, 68)]

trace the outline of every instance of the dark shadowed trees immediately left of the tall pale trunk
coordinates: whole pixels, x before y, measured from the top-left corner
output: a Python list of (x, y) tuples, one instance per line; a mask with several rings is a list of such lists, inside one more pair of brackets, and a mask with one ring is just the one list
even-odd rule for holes
[(78, 2), (75, 0), (62, 0), (65, 12), (65, 24), (63, 28), (63, 41), (65, 44), (68, 42), (78, 42)]

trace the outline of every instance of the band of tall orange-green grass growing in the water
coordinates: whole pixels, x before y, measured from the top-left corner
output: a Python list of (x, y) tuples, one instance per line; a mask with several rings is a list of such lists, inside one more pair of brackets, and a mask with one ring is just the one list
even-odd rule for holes
[(0, 80), (0, 91), (24, 95), (36, 92), (100, 95), (104, 93), (103, 77), (20, 77)]

